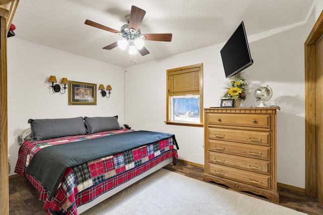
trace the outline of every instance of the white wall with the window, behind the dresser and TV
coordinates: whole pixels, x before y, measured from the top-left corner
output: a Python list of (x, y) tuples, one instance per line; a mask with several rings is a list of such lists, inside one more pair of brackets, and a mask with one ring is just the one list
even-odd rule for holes
[[(242, 73), (250, 82), (250, 94), (242, 105), (258, 105), (253, 92), (269, 85), (273, 97), (267, 105), (278, 105), (278, 182), (305, 187), (305, 80), (304, 42), (314, 24), (287, 26), (250, 36), (254, 64)], [(248, 32), (248, 29), (246, 29)], [(213, 45), (165, 59), (128, 67), (126, 70), (125, 121), (134, 129), (170, 132), (176, 135), (179, 158), (204, 164), (203, 128), (166, 125), (166, 70), (203, 63), (203, 107), (220, 106), (225, 82), (220, 49)]]

